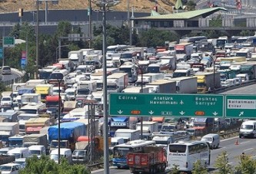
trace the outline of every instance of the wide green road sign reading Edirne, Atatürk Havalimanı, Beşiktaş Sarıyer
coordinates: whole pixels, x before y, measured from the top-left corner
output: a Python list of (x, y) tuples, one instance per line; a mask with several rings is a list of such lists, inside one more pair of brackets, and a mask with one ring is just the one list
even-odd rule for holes
[(223, 95), (112, 93), (109, 97), (109, 115), (223, 117)]

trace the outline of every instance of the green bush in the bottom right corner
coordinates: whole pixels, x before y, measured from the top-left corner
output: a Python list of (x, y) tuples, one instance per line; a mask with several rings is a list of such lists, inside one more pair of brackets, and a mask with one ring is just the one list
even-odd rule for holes
[(239, 164), (235, 167), (237, 172), (246, 173), (246, 174), (254, 174), (256, 172), (256, 161), (252, 159), (251, 156), (242, 154), (238, 157)]

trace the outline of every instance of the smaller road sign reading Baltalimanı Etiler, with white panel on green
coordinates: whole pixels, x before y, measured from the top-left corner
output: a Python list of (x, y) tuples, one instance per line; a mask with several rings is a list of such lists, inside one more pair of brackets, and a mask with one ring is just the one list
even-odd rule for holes
[(255, 118), (256, 96), (254, 95), (226, 95), (227, 118)]

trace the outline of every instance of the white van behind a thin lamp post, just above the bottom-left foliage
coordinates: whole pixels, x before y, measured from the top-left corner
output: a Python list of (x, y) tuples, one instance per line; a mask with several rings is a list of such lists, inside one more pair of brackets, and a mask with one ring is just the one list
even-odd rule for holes
[[(72, 163), (71, 149), (61, 148), (60, 151), (61, 151), (60, 152), (61, 158), (64, 157), (65, 159), (67, 159), (68, 163), (71, 164)], [(52, 150), (52, 152), (50, 153), (50, 159), (53, 159), (55, 163), (58, 163), (58, 149)]]

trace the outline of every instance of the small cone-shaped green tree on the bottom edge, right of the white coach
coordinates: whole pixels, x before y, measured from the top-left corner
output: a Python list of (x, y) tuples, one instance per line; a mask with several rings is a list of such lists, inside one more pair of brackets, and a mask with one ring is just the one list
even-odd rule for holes
[(227, 174), (232, 172), (231, 165), (228, 163), (227, 151), (224, 151), (218, 155), (214, 166), (218, 169), (218, 172), (215, 172), (216, 174)]

